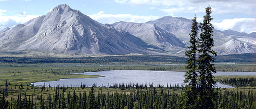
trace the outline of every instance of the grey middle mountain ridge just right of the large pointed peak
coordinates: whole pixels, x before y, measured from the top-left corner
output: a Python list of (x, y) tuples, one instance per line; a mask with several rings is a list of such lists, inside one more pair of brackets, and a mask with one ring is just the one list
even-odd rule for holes
[(144, 42), (162, 48), (166, 51), (177, 52), (185, 48), (175, 35), (149, 23), (116, 22), (115, 28), (129, 32), (141, 38)]

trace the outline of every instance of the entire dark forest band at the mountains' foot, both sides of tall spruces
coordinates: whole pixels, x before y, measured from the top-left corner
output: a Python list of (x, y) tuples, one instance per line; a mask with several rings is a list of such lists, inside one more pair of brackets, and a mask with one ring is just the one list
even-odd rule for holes
[[(256, 53), (216, 56), (216, 62), (255, 63)], [(183, 64), (186, 58), (166, 55), (101, 56), (101, 57), (0, 57), (0, 63), (155, 63), (170, 62)]]

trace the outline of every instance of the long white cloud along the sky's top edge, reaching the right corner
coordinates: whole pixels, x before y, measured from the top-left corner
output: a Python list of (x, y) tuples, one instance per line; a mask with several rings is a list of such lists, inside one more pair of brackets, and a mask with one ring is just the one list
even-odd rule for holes
[(253, 0), (115, 0), (115, 2), (128, 5), (157, 6), (156, 9), (166, 13), (204, 12), (204, 8), (210, 5), (214, 14), (256, 14), (256, 2)]

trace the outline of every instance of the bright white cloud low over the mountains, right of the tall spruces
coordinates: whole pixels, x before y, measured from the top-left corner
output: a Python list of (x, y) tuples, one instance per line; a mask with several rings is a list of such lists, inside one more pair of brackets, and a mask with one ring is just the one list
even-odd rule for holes
[(224, 19), (222, 22), (212, 22), (215, 29), (219, 30), (235, 30), (239, 32), (251, 33), (256, 31), (255, 18), (233, 18)]

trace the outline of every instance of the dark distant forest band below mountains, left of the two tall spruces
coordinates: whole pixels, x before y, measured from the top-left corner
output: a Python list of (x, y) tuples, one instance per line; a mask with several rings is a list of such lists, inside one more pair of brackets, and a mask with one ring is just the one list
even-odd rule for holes
[(101, 57), (0, 57), (1, 63), (143, 63), (175, 62), (184, 63), (185, 58), (167, 55), (101, 56)]

